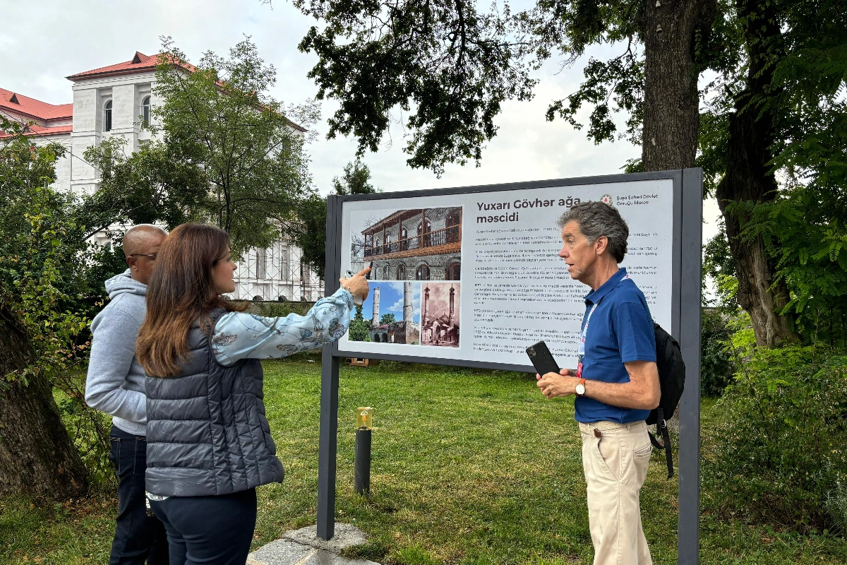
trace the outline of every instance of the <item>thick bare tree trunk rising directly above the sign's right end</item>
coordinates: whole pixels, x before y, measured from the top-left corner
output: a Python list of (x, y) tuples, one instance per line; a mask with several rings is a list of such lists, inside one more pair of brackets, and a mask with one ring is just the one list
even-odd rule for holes
[(645, 171), (694, 166), (700, 126), (695, 32), (711, 27), (716, 11), (716, 0), (645, 0), (639, 13), (645, 46)]

